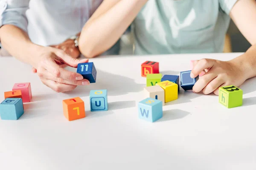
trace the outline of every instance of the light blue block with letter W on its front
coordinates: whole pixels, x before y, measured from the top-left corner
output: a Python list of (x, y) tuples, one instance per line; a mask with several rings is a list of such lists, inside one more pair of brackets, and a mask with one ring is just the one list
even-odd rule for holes
[(160, 100), (147, 98), (139, 102), (139, 118), (155, 122), (163, 117), (163, 103)]

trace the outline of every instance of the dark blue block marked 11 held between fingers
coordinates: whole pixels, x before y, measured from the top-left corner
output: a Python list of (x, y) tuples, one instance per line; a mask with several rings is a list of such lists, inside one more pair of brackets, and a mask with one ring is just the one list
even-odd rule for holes
[(81, 74), (84, 79), (89, 80), (90, 83), (96, 82), (97, 71), (93, 62), (78, 64), (76, 72)]

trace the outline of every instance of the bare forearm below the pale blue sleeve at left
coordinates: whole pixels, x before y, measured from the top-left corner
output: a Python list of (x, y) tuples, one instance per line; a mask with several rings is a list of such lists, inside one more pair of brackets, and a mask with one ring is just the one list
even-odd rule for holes
[(12, 56), (35, 66), (32, 58), (36, 56), (41, 46), (33, 44), (25, 31), (16, 26), (4, 25), (0, 28), (0, 40)]

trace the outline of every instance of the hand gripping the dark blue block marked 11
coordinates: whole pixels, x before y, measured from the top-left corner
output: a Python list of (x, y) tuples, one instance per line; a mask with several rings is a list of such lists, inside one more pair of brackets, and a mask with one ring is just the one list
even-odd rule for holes
[(89, 81), (84, 79), (81, 74), (67, 71), (62, 68), (63, 65), (77, 68), (79, 63), (88, 62), (88, 59), (74, 59), (64, 51), (45, 47), (44, 53), (37, 61), (36, 71), (44, 85), (56, 92), (71, 91), (77, 85), (89, 85)]

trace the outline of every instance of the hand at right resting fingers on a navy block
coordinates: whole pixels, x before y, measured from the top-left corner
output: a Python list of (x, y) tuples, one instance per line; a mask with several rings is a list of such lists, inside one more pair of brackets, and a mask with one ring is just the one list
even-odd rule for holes
[(195, 78), (201, 71), (206, 74), (200, 77), (193, 87), (193, 91), (198, 93), (202, 91), (204, 94), (218, 95), (219, 87), (226, 85), (240, 86), (245, 80), (244, 71), (239, 63), (233, 60), (220, 61), (216, 59), (201, 59), (193, 63), (191, 77)]

